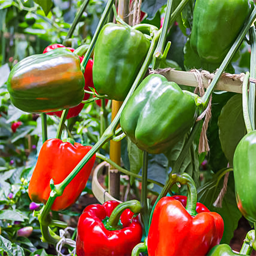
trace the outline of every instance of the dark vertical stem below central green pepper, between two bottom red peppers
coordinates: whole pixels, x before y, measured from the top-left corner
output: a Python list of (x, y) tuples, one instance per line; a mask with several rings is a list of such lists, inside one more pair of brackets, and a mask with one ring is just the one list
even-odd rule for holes
[(148, 185), (148, 152), (143, 150), (143, 165), (142, 165), (142, 181), (141, 181), (141, 199), (142, 219), (146, 236), (148, 236), (148, 199), (147, 199), (147, 185)]

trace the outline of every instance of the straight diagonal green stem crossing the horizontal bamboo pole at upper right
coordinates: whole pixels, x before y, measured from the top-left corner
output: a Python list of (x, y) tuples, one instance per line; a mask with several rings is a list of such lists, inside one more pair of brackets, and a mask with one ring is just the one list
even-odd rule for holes
[(236, 41), (234, 42), (234, 44), (232, 45), (232, 47), (230, 48), (230, 50), (228, 51), (228, 54), (226, 55), (226, 57), (224, 58), (224, 60), (222, 61), (220, 68), (217, 70), (215, 76), (212, 79), (211, 84), (209, 85), (209, 87), (206, 89), (204, 96), (202, 97), (204, 106), (208, 105), (210, 96), (214, 90), (215, 85), (217, 84), (221, 74), (223, 73), (223, 71), (225, 70), (225, 68), (228, 66), (229, 61), (232, 59), (232, 57), (234, 56), (236, 50), (238, 49), (238, 47), (240, 46), (240, 44), (242, 43), (242, 41), (244, 40), (244, 36), (246, 35), (247, 31), (249, 30), (249, 28), (251, 27), (253, 21), (256, 18), (256, 6), (253, 8), (252, 13), (250, 15), (250, 17), (248, 18), (247, 22), (245, 23), (243, 29), (241, 30), (241, 32), (239, 33), (239, 35), (236, 38)]

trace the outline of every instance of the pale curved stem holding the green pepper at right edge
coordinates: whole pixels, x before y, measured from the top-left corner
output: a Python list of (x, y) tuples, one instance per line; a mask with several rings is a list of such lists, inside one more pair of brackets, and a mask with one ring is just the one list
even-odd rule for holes
[(248, 108), (248, 82), (249, 82), (250, 73), (246, 72), (243, 81), (243, 115), (244, 115), (244, 123), (247, 132), (252, 132), (252, 124), (249, 116), (249, 108)]

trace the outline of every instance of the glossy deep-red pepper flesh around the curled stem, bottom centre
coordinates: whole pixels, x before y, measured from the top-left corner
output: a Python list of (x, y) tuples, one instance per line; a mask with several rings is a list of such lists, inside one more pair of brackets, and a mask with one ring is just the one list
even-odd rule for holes
[(133, 247), (142, 237), (142, 227), (138, 217), (132, 218), (132, 211), (126, 209), (121, 215), (123, 228), (108, 230), (102, 220), (111, 213), (119, 203), (107, 201), (104, 204), (87, 206), (79, 217), (77, 224), (76, 254), (78, 256), (131, 255)]

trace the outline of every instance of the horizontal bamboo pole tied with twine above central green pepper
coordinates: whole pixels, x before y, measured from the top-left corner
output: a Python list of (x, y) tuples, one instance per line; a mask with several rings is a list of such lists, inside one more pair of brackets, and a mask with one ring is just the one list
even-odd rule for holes
[[(187, 85), (192, 87), (197, 87), (198, 82), (194, 72), (191, 71), (179, 71), (179, 70), (166, 70), (166, 69), (158, 69), (157, 73), (165, 76), (168, 81), (175, 82), (179, 85)], [(197, 73), (199, 74), (199, 73)], [(201, 73), (202, 82), (204, 88), (209, 86), (209, 77), (212, 74), (207, 74), (206, 72)], [(217, 83), (215, 90), (219, 91), (227, 91), (227, 92), (236, 92), (242, 93), (242, 81), (244, 74), (223, 74), (219, 82)]]

